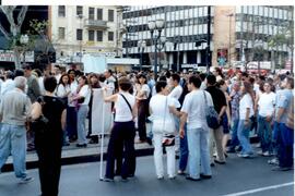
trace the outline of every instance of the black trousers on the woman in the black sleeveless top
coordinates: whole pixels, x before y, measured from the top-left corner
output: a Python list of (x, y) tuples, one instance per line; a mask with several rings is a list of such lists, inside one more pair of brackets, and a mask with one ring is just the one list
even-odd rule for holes
[(61, 169), (61, 140), (60, 137), (46, 137), (36, 134), (36, 151), (42, 196), (57, 196)]

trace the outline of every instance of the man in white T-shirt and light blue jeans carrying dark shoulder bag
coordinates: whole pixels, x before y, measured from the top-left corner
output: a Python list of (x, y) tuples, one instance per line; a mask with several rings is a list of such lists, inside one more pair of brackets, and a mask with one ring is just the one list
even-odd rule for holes
[[(186, 96), (180, 118), (179, 135), (185, 135), (187, 122), (187, 137), (189, 148), (189, 175), (187, 180), (199, 181), (200, 177), (210, 179), (210, 152), (209, 152), (209, 127), (205, 120), (205, 99), (209, 106), (213, 106), (211, 95), (200, 90), (201, 79), (191, 76), (188, 82), (190, 93)], [(200, 166), (201, 164), (201, 166)]]

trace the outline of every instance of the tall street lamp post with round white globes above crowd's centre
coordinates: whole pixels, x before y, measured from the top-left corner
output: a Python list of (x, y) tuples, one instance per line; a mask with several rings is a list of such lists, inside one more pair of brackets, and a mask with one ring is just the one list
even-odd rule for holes
[[(155, 46), (154, 50), (154, 78), (156, 81), (157, 78), (157, 50), (161, 51), (164, 48), (165, 45), (165, 38), (161, 37), (162, 30), (164, 28), (165, 21), (164, 20), (156, 20), (156, 21), (150, 21), (148, 26), (151, 32), (151, 39), (152, 44)], [(157, 35), (154, 36), (154, 32), (157, 30)]]

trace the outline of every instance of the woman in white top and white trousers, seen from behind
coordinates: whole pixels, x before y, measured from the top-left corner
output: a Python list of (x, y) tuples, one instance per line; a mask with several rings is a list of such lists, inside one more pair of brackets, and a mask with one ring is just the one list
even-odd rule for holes
[[(153, 119), (153, 142), (154, 142), (154, 162), (157, 179), (164, 179), (163, 167), (163, 136), (165, 134), (175, 135), (175, 123), (173, 114), (179, 117), (176, 110), (179, 102), (167, 97), (168, 88), (166, 81), (156, 83), (156, 95), (151, 98), (150, 112)], [(175, 179), (175, 145), (166, 146), (167, 152), (167, 174), (169, 179)]]

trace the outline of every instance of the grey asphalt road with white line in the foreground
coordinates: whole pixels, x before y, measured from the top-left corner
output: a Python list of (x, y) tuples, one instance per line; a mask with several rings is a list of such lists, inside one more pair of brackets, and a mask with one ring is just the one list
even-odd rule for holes
[[(198, 182), (184, 176), (156, 179), (153, 157), (138, 158), (137, 176), (113, 183), (99, 181), (99, 162), (62, 167), (60, 196), (293, 196), (293, 171), (271, 171), (268, 158), (243, 159), (231, 155), (225, 166), (213, 168), (213, 177)], [(28, 170), (35, 181), (17, 184), (13, 172), (0, 174), (0, 196), (39, 195), (37, 170)]]

